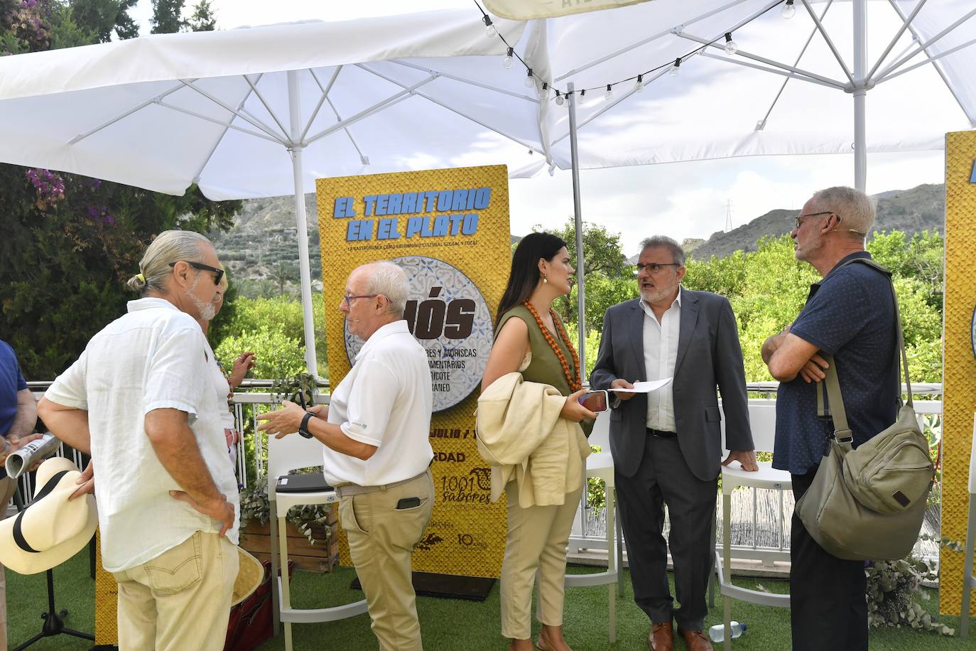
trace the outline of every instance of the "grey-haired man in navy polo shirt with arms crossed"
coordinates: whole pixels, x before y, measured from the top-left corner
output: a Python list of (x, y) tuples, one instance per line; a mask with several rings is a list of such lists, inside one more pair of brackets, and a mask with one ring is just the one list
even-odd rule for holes
[[(834, 356), (854, 447), (894, 423), (900, 387), (895, 305), (888, 276), (861, 263), (874, 224), (874, 200), (851, 187), (815, 193), (796, 218), (796, 259), (824, 277), (810, 287), (799, 315), (762, 345), (762, 359), (780, 381), (773, 468), (790, 470), (798, 501), (813, 482), (829, 436), (817, 416), (817, 383), (826, 377), (821, 352)], [(790, 543), (793, 651), (867, 651), (868, 606), (862, 561), (843, 560), (810, 537), (793, 514)]]

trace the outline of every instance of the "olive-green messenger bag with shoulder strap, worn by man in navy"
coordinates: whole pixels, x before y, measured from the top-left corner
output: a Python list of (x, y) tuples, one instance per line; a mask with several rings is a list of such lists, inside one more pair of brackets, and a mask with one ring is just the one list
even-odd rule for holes
[[(868, 264), (891, 279), (890, 271), (874, 261), (858, 258), (846, 264), (853, 263)], [(894, 425), (853, 449), (834, 359), (824, 355), (829, 366), (825, 382), (817, 385), (818, 412), (833, 418), (834, 434), (828, 456), (821, 461), (813, 483), (795, 507), (796, 515), (818, 545), (849, 560), (907, 556), (918, 538), (932, 487), (934, 469), (928, 441), (915, 418), (894, 284), (891, 294), (895, 301), (898, 363), (904, 369), (908, 403), (899, 410)], [(827, 409), (823, 385), (827, 386)]]

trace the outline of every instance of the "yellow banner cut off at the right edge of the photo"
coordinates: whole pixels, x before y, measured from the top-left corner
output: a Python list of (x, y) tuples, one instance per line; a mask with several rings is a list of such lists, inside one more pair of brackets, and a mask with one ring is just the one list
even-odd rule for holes
[[(976, 413), (976, 132), (946, 135), (946, 294), (942, 386), (942, 535), (966, 537)], [(962, 554), (940, 550), (939, 611), (958, 615)], [(970, 610), (976, 615), (976, 600)]]

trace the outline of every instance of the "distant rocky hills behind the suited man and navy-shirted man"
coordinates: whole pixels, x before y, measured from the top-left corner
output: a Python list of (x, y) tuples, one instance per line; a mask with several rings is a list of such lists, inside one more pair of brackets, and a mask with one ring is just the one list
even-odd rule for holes
[[(874, 195), (877, 217), (874, 230), (901, 230), (912, 234), (922, 230), (943, 231), (946, 190), (943, 184), (918, 185), (910, 190), (889, 190)], [(724, 258), (736, 251), (755, 251), (756, 242), (765, 235), (782, 235), (793, 229), (798, 210), (772, 210), (729, 232), (718, 231), (694, 249), (697, 260), (712, 256)]]

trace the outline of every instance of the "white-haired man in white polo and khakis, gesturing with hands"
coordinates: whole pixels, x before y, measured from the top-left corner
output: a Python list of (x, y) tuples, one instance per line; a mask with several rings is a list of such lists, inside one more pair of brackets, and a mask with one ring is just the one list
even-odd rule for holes
[(298, 431), (322, 443), (323, 470), (339, 494), (339, 517), (380, 648), (421, 651), (411, 552), (433, 507), (427, 352), (403, 311), (410, 294), (396, 264), (364, 264), (346, 280), (339, 309), (346, 332), (366, 343), (328, 406), (286, 401), (259, 427)]

